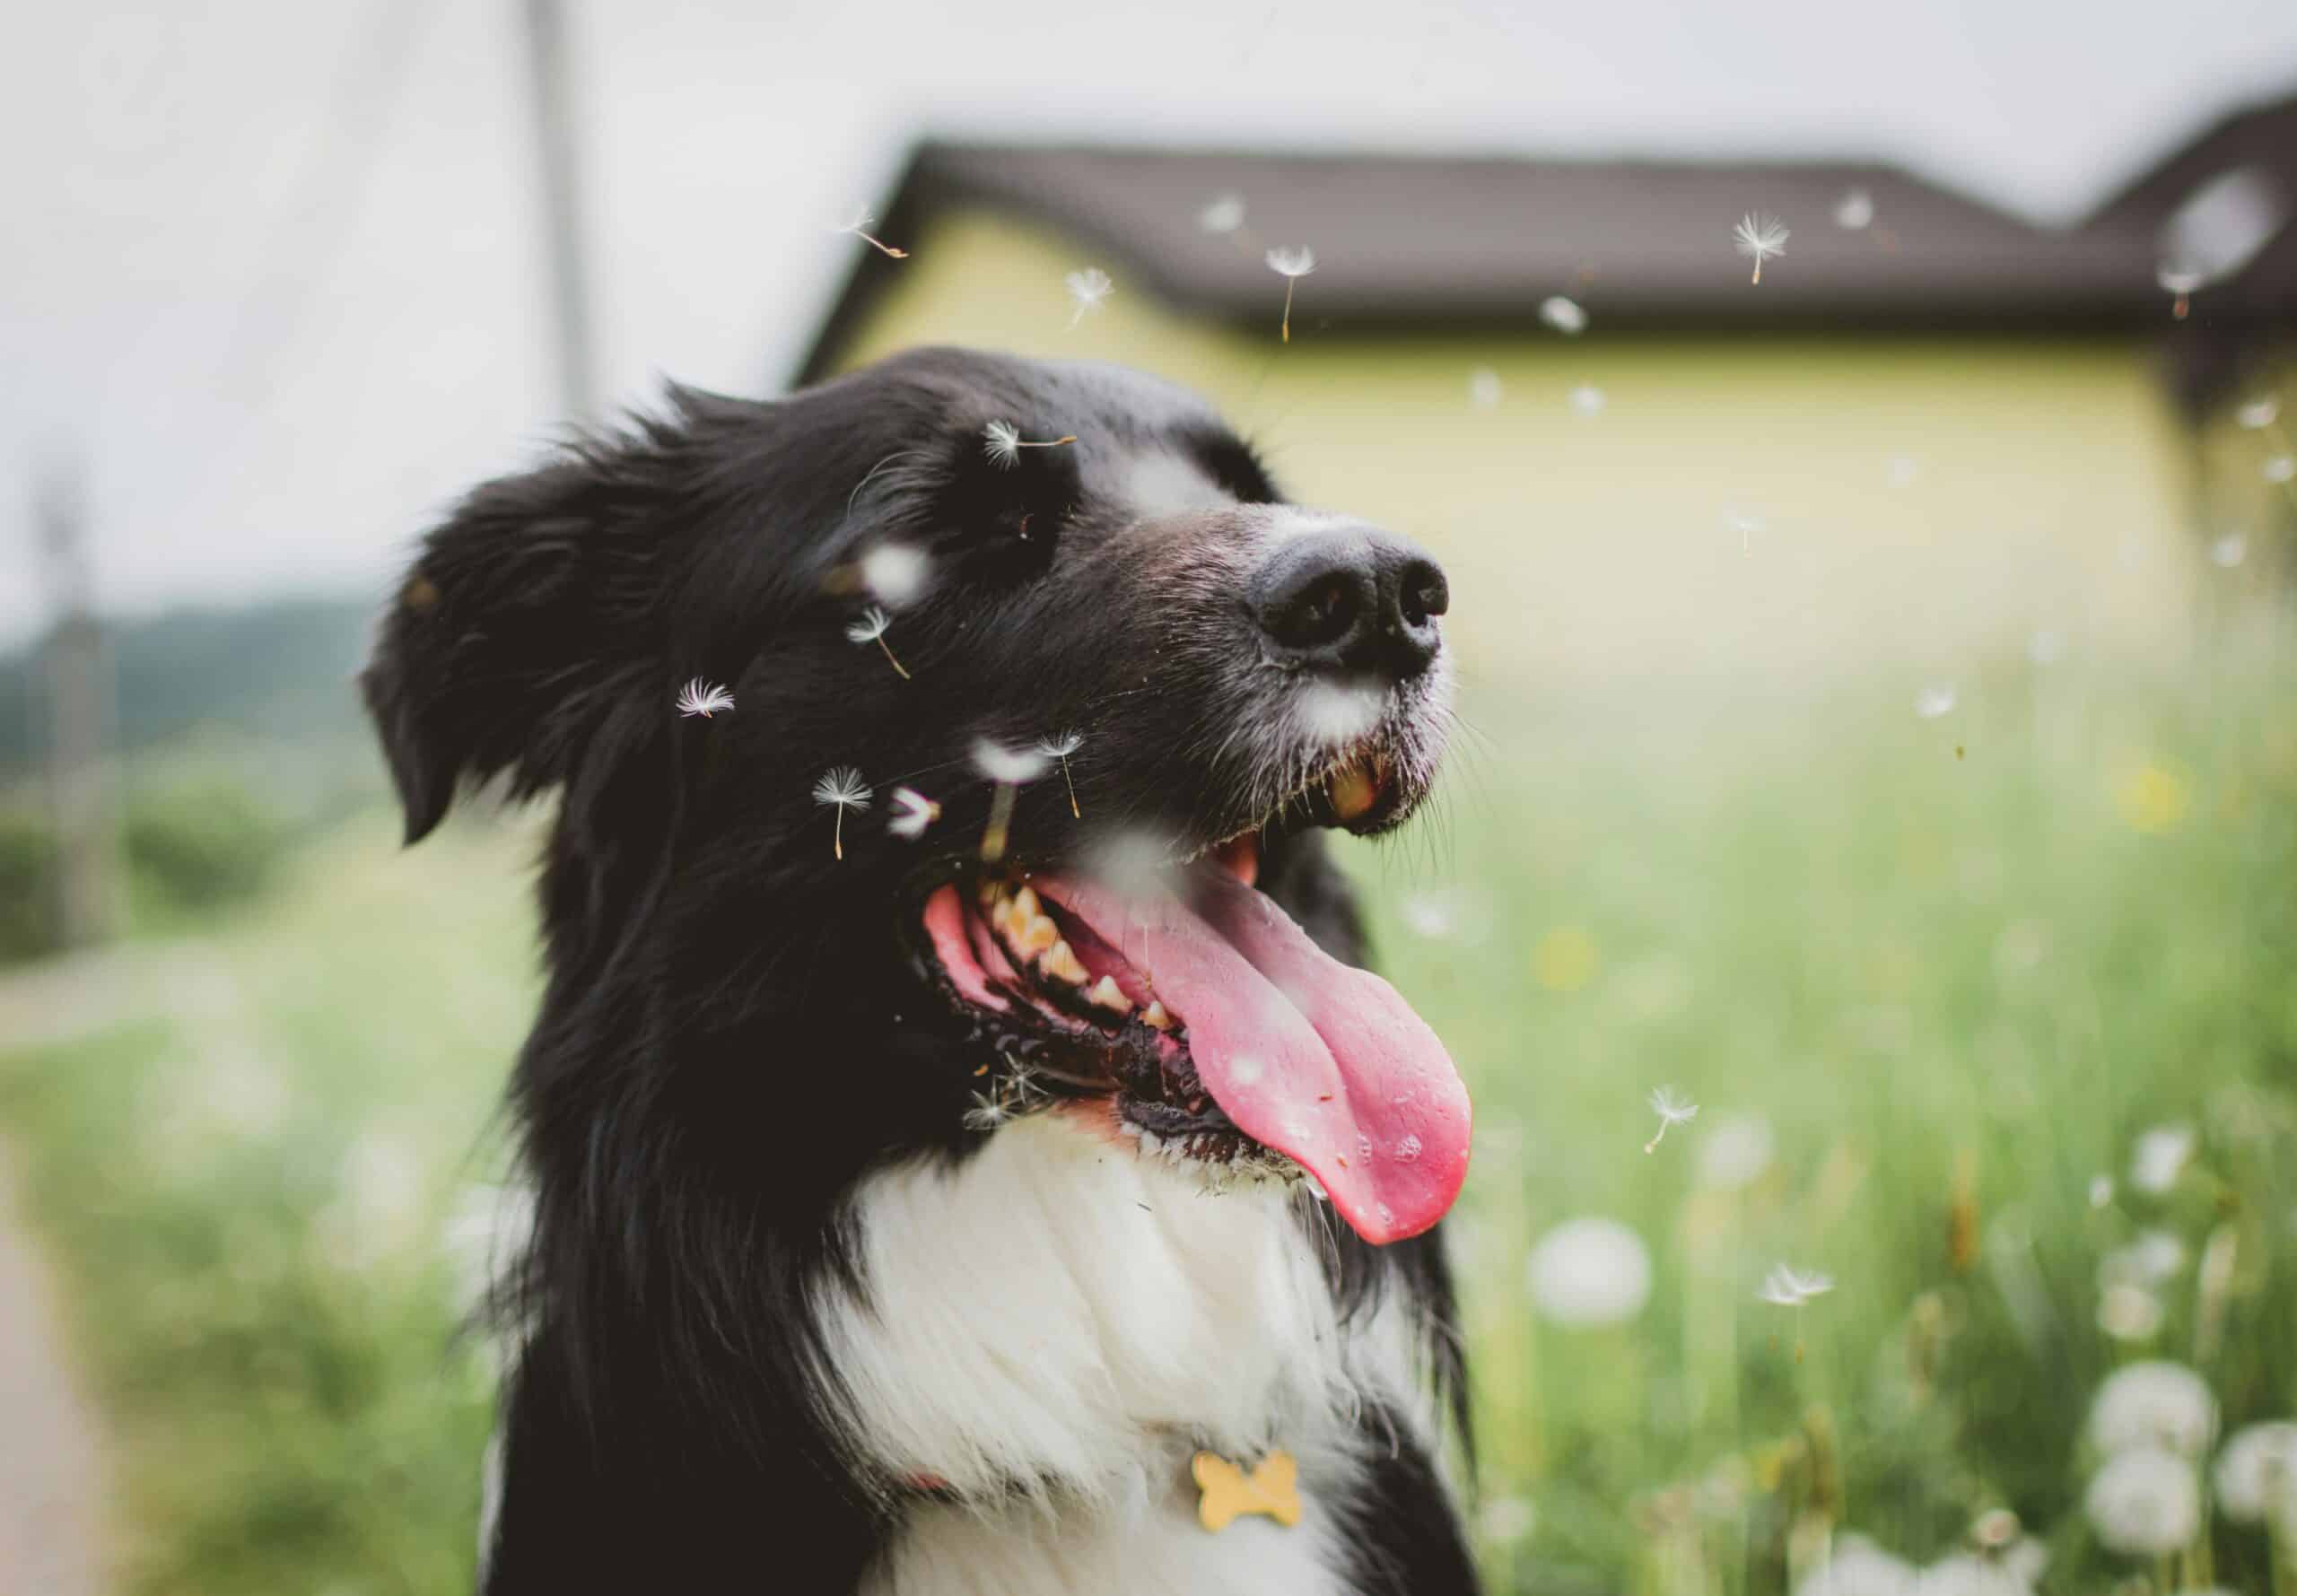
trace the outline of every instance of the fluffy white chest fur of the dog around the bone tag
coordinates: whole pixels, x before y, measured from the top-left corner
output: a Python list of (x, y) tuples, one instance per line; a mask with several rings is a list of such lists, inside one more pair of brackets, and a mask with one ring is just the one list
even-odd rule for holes
[[(1341, 1323), (1291, 1201), (1206, 1190), (1052, 1114), (958, 1169), (871, 1178), (854, 1201), (868, 1300), (818, 1304), (832, 1389), (891, 1474), (969, 1500), (914, 1513), (875, 1589), (1337, 1589), (1355, 1415), (1424, 1415), (1424, 1399), (1399, 1304)], [(1199, 1444), (1293, 1451), (1300, 1525), (1204, 1532), (1185, 1481)]]

